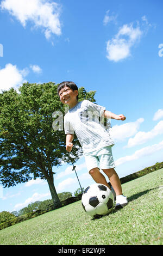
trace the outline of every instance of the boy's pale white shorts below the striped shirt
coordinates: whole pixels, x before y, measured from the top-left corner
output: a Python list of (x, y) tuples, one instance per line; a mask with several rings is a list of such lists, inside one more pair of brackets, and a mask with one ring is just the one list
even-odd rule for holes
[(111, 147), (112, 145), (86, 153), (85, 162), (87, 170), (90, 171), (93, 168), (99, 168), (102, 170), (115, 168)]

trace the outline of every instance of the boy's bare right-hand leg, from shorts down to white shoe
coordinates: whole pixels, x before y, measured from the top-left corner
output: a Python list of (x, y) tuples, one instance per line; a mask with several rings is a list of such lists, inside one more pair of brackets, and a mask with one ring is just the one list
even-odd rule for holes
[(114, 188), (116, 196), (122, 194), (121, 181), (118, 177), (114, 168), (111, 169), (103, 169), (103, 172), (108, 176), (111, 186)]

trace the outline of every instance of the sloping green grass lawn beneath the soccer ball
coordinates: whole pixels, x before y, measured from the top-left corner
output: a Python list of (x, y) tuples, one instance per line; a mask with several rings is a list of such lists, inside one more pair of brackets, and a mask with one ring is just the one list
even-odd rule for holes
[(129, 203), (93, 219), (81, 200), (0, 231), (0, 245), (162, 245), (163, 169), (122, 185)]

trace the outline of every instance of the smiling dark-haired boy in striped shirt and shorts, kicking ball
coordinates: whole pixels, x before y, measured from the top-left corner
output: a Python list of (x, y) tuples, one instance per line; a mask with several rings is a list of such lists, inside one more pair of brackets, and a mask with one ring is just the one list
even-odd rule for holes
[[(123, 114), (116, 115), (89, 100), (78, 101), (78, 87), (73, 82), (62, 82), (58, 86), (60, 101), (70, 107), (64, 117), (66, 133), (66, 150), (71, 152), (74, 131), (83, 148), (85, 162), (89, 174), (97, 183), (109, 187), (105, 176), (99, 172), (101, 168), (108, 176), (116, 193), (116, 209), (127, 205), (128, 200), (122, 194), (120, 179), (115, 172), (115, 164), (111, 153), (114, 142), (99, 118), (125, 120)], [(111, 190), (111, 188), (110, 188)]]

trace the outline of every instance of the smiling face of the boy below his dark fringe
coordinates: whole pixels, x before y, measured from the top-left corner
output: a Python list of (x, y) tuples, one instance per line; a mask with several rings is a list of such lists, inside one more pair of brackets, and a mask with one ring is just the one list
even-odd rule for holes
[(60, 101), (70, 107), (77, 102), (78, 90), (72, 90), (69, 87), (64, 87), (59, 91)]

